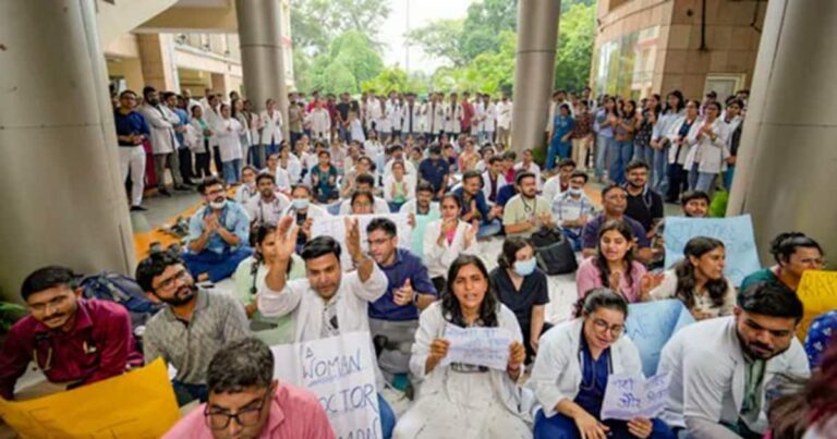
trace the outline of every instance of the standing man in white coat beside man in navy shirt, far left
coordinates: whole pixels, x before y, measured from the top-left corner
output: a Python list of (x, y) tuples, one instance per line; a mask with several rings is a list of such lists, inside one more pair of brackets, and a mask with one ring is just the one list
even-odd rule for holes
[(154, 87), (145, 87), (143, 98), (145, 102), (140, 107), (140, 113), (145, 118), (150, 131), (148, 141), (151, 143), (151, 151), (154, 153), (157, 188), (160, 194), (171, 196), (166, 190), (166, 168), (171, 171), (174, 188), (184, 188), (183, 179), (180, 175), (180, 160), (175, 153), (178, 141), (174, 138), (174, 125), (180, 123), (180, 118), (160, 103), (160, 98)]

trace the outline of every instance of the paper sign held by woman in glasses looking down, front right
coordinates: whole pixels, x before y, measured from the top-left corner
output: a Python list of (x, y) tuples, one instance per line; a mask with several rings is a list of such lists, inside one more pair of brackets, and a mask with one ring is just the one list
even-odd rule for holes
[(641, 376), (610, 375), (607, 377), (602, 419), (651, 419), (659, 416), (666, 406), (668, 373), (648, 379)]

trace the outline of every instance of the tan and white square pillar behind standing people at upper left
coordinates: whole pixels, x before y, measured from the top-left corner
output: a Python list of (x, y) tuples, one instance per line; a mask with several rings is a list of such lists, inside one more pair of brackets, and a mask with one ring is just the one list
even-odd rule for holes
[[(174, 41), (168, 34), (137, 34), (136, 44), (140, 47), (140, 62), (143, 65), (144, 86), (151, 86), (158, 92), (178, 92), (177, 69), (174, 66)], [(135, 90), (143, 95), (142, 88)]]

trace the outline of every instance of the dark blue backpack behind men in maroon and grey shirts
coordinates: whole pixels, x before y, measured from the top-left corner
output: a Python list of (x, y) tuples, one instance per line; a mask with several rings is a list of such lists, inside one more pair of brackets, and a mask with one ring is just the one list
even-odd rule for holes
[(88, 276), (82, 280), (80, 286), (85, 298), (114, 302), (128, 309), (137, 343), (145, 331), (145, 324), (163, 306), (146, 298), (142, 286), (134, 279), (116, 272), (102, 271)]

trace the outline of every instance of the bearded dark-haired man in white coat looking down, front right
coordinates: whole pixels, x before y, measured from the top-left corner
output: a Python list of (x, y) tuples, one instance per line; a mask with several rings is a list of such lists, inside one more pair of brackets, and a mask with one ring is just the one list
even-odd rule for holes
[(664, 419), (694, 439), (761, 437), (767, 383), (810, 375), (794, 337), (801, 318), (794, 292), (759, 283), (739, 292), (732, 316), (679, 330), (660, 354), (658, 373), (671, 374)]

